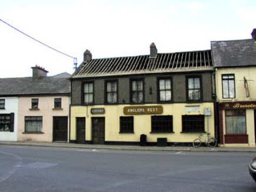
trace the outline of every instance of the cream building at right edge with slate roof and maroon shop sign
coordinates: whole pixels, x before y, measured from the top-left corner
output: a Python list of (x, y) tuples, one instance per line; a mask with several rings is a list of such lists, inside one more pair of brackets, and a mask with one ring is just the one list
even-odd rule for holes
[(255, 33), (252, 39), (211, 42), (220, 146), (255, 147)]

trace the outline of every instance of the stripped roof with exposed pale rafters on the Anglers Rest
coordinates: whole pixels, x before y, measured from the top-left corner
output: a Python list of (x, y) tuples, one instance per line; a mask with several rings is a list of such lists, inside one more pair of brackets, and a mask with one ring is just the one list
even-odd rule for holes
[(211, 50), (158, 53), (156, 58), (144, 55), (83, 61), (73, 73), (72, 78), (208, 70), (211, 68), (213, 68)]

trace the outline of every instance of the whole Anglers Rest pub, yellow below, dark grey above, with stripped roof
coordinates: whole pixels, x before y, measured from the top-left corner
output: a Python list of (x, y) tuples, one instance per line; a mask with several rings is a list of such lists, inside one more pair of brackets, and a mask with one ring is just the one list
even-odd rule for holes
[(214, 128), (211, 50), (84, 60), (70, 78), (70, 142), (191, 145)]

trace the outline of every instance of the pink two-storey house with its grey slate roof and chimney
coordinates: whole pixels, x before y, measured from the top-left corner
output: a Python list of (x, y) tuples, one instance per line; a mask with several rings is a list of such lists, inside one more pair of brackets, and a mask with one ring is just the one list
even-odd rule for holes
[(48, 77), (44, 68), (32, 67), (32, 77), (6, 78), (5, 93), (18, 97), (18, 141), (68, 142), (69, 76)]

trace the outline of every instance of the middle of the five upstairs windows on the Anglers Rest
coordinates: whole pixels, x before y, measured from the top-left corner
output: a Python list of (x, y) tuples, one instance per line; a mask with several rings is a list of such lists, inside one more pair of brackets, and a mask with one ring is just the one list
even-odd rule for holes
[(132, 80), (132, 101), (133, 103), (139, 104), (144, 102), (144, 82), (143, 80)]

